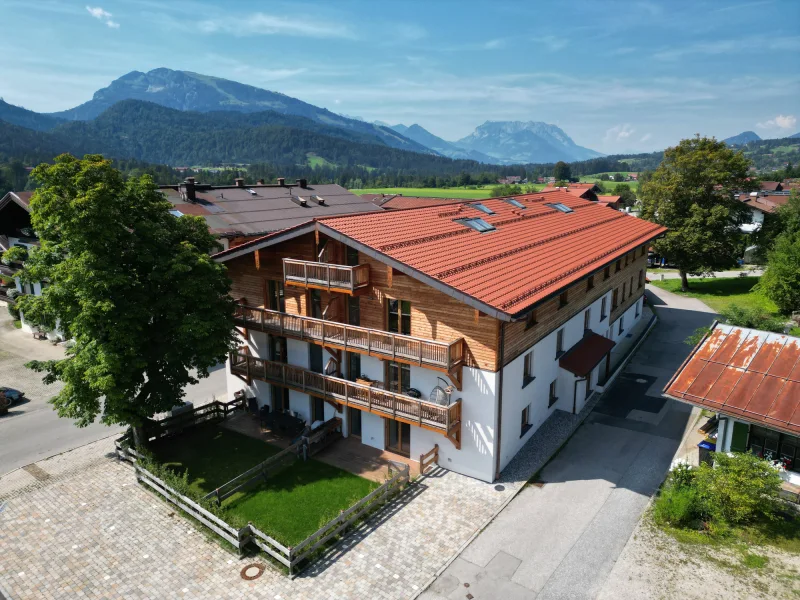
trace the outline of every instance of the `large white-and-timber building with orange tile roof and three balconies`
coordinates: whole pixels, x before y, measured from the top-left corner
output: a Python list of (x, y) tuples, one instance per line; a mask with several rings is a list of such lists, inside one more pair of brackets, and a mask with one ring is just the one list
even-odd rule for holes
[(316, 219), (215, 255), (240, 350), (228, 392), (493, 481), (579, 412), (641, 318), (663, 227), (563, 190)]

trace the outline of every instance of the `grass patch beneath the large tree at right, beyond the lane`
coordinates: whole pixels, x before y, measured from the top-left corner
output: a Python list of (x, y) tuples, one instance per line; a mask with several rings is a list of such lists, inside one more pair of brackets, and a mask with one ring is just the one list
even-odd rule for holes
[(717, 312), (731, 304), (737, 304), (746, 308), (759, 308), (773, 315), (779, 314), (774, 302), (752, 291), (758, 280), (758, 277), (689, 279), (688, 292), (681, 291), (680, 279), (656, 280), (651, 283), (680, 296), (698, 298)]

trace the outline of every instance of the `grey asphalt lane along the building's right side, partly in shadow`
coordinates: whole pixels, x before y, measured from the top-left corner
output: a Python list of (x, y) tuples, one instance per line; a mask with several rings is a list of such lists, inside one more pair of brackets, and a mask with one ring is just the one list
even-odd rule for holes
[[(657, 295), (656, 295), (657, 294)], [(561, 452), (421, 598), (595, 598), (695, 417), (661, 389), (713, 312), (648, 290), (659, 323)]]

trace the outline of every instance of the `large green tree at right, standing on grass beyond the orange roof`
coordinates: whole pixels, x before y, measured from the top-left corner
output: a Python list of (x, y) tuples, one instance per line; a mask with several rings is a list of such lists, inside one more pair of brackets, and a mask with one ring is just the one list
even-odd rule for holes
[(658, 169), (642, 184), (642, 216), (669, 228), (654, 246), (678, 267), (683, 290), (689, 289), (690, 273), (736, 264), (738, 226), (749, 220), (749, 209), (734, 192), (758, 186), (748, 178), (749, 166), (742, 152), (696, 136), (668, 148)]

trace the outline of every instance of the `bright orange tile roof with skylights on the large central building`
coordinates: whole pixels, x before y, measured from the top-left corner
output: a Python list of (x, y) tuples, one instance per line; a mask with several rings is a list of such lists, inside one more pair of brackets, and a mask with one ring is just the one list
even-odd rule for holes
[[(326, 228), (411, 267), (484, 306), (517, 315), (613, 262), (666, 228), (563, 190), (514, 198), (319, 219)], [(473, 207), (483, 204), (487, 215)], [(546, 203), (562, 203), (563, 213)], [(479, 233), (455, 222), (477, 217)]]

